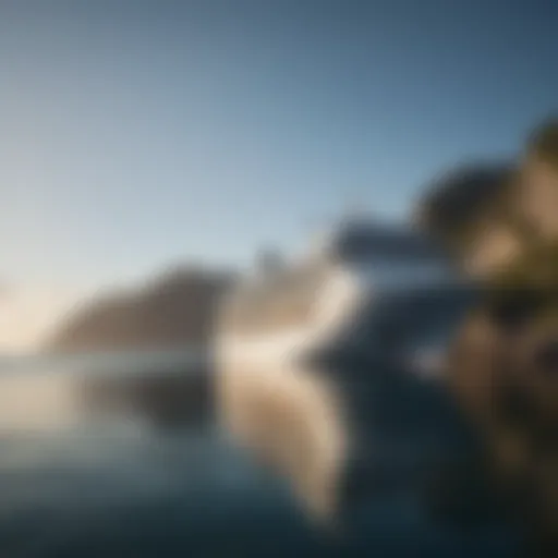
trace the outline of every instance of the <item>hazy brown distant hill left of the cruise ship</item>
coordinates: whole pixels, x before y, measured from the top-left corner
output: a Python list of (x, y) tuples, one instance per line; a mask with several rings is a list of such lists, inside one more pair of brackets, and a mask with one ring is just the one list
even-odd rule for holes
[(231, 284), (227, 271), (180, 268), (141, 289), (92, 300), (60, 324), (48, 352), (112, 351), (204, 345), (220, 296)]

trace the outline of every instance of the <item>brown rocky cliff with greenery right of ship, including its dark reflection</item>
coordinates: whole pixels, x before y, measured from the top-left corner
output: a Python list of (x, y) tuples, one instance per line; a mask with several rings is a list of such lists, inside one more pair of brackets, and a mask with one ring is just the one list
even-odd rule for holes
[(446, 379), (483, 441), (490, 486), (526, 530), (526, 555), (556, 556), (558, 121), (536, 130), (517, 162), (437, 181), (416, 215), (486, 286)]

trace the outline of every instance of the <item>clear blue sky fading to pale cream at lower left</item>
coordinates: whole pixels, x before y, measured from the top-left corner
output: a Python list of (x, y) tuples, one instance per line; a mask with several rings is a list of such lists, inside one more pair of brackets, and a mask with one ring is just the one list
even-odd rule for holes
[(348, 204), (401, 218), (513, 156), (558, 108), (551, 3), (2, 0), (0, 350), (84, 293), (243, 265)]

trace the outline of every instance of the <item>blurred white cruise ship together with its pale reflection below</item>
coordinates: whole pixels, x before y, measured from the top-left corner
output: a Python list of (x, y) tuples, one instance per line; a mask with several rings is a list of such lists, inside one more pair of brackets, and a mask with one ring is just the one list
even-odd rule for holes
[(343, 220), (302, 256), (268, 258), (218, 320), (226, 430), (330, 520), (366, 430), (345, 386), (395, 361), (435, 376), (470, 292), (429, 239), (367, 218)]

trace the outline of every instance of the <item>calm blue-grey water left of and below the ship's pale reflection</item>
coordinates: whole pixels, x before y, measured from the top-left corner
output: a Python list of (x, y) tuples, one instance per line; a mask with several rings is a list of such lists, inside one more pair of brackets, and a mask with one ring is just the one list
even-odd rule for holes
[[(436, 513), (437, 493), (416, 474), (429, 458), (412, 417), (407, 432), (399, 429), (402, 442), (378, 432), (381, 489), (342, 530), (318, 532), (281, 482), (214, 426), (209, 378), (185, 353), (3, 363), (1, 555), (512, 555), (514, 542), (498, 523), (452, 523)], [(401, 389), (392, 397), (412, 405), (414, 396)], [(429, 422), (448, 433), (444, 404), (436, 418), (434, 400), (425, 397), (417, 400), (429, 408)], [(187, 413), (179, 412), (185, 401)], [(452, 439), (447, 451), (459, 452), (456, 438), (446, 437)], [(460, 509), (463, 494), (456, 496)]]

